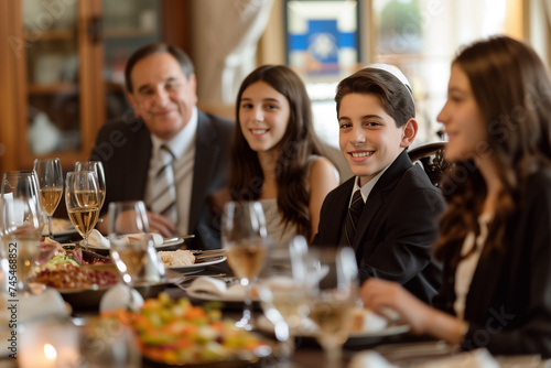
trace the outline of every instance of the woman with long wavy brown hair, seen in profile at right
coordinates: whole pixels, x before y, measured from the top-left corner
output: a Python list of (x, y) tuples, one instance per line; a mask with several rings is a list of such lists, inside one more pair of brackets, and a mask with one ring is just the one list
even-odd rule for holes
[(396, 310), (412, 331), (465, 349), (551, 356), (551, 83), (541, 59), (507, 36), (476, 42), (452, 63), (439, 115), (455, 169), (435, 255), (436, 309), (368, 280), (361, 299)]

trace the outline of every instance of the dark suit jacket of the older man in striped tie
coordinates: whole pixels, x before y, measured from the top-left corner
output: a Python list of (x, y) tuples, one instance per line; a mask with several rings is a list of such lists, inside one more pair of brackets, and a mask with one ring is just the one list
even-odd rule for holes
[[(210, 193), (225, 186), (229, 171), (229, 144), (234, 123), (198, 111), (193, 171), (190, 231), (197, 249), (219, 248), (219, 226), (206, 206)], [(99, 131), (90, 160), (102, 161), (107, 194), (102, 210), (115, 201), (139, 201), (145, 196), (151, 136), (141, 119), (117, 120)]]

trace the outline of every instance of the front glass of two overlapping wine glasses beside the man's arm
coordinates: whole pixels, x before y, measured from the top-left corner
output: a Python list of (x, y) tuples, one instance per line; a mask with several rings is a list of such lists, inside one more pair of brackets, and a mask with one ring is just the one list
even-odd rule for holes
[(88, 250), (88, 236), (99, 216), (99, 188), (96, 173), (69, 172), (65, 180), (65, 204), (71, 223), (84, 239)]

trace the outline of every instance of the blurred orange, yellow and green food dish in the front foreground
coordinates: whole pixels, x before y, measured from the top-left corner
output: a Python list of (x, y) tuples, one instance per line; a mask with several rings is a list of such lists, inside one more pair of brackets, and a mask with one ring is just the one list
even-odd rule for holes
[(119, 310), (114, 316), (130, 321), (148, 366), (246, 367), (272, 354), (271, 342), (237, 328), (219, 310), (165, 293), (147, 300), (139, 313)]

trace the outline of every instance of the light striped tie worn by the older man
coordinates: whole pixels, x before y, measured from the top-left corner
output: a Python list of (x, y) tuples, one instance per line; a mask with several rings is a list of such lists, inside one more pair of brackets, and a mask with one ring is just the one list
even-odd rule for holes
[(153, 198), (151, 199), (150, 207), (153, 213), (164, 215), (172, 223), (176, 224), (176, 186), (172, 165), (175, 158), (170, 148), (165, 144), (161, 145), (159, 153), (162, 164), (153, 182), (153, 191), (151, 192)]

